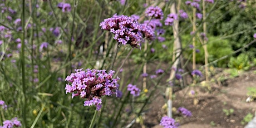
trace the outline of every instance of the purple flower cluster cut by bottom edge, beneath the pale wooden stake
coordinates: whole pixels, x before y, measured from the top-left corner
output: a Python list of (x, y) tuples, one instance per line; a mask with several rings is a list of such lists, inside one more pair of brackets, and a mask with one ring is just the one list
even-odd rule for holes
[(179, 123), (175, 122), (171, 117), (164, 116), (160, 121), (160, 125), (164, 126), (164, 128), (178, 128)]

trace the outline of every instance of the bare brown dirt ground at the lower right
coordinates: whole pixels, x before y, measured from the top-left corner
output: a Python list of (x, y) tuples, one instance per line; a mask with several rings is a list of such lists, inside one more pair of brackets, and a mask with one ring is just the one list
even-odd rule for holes
[[(175, 108), (185, 107), (193, 114), (191, 117), (179, 118), (180, 128), (207, 128), (207, 127), (244, 127), (240, 122), (245, 115), (256, 111), (256, 101), (245, 102), (247, 99), (248, 87), (256, 87), (256, 68), (247, 72), (239, 73), (238, 77), (228, 78), (225, 81), (213, 81), (210, 83), (211, 91), (205, 87), (193, 86), (185, 87), (183, 90), (175, 92), (173, 106)], [(227, 76), (223, 70), (218, 75)], [(197, 105), (193, 105), (194, 97), (188, 95), (189, 91), (197, 92)], [(156, 96), (150, 105), (150, 112), (145, 114), (145, 127), (162, 127), (159, 125), (161, 117), (166, 114), (162, 108), (165, 104), (163, 95)], [(230, 115), (225, 115), (223, 109), (233, 109)], [(176, 115), (174, 114), (174, 117)], [(135, 125), (135, 127), (141, 127)]]

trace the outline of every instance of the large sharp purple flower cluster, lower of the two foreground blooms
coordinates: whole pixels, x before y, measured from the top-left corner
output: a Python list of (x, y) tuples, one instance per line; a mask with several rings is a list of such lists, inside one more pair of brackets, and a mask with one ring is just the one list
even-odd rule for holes
[(82, 70), (77, 69), (75, 73), (67, 76), (65, 81), (71, 82), (66, 84), (66, 93), (72, 92), (72, 98), (80, 96), (86, 99), (84, 106), (95, 105), (97, 110), (101, 108), (101, 97), (104, 95), (111, 96), (113, 93), (117, 96), (119, 78), (112, 78), (115, 71), (110, 70)]

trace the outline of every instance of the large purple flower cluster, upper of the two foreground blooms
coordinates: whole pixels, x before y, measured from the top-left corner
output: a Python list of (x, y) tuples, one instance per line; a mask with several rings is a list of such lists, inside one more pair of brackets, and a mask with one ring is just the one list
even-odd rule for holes
[(114, 39), (122, 45), (129, 44), (132, 47), (140, 48), (143, 37), (147, 40), (154, 40), (154, 31), (148, 26), (142, 26), (135, 18), (115, 14), (111, 18), (104, 19), (100, 23), (101, 29), (113, 33)]

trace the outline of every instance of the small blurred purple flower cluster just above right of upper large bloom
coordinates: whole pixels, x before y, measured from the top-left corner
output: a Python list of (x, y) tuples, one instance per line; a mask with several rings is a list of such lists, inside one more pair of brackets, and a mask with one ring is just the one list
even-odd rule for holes
[(162, 9), (157, 6), (156, 7), (151, 6), (151, 7), (147, 8), (145, 13), (146, 13), (146, 16), (152, 17), (155, 19), (161, 20), (164, 17), (164, 13), (163, 13)]

